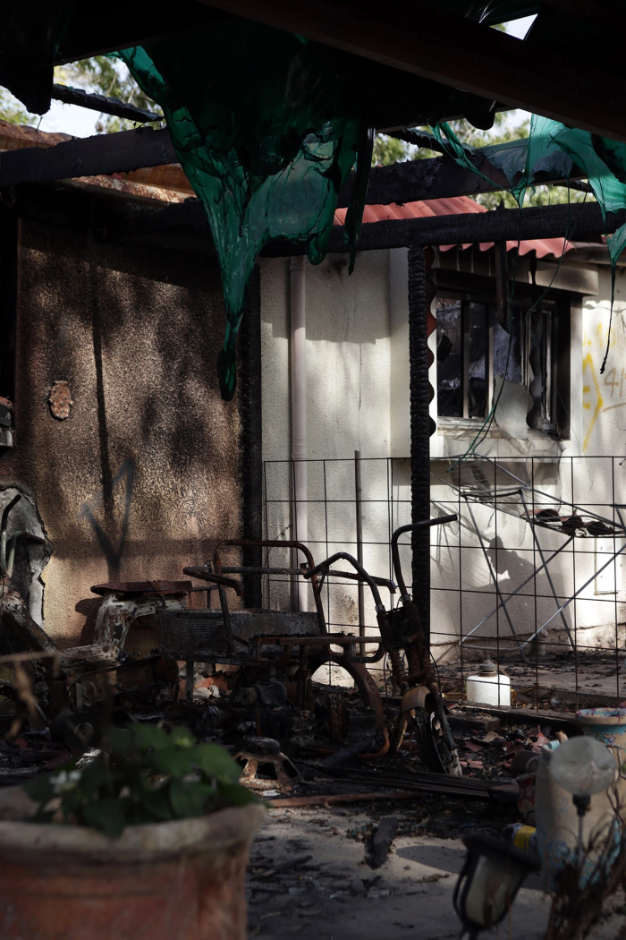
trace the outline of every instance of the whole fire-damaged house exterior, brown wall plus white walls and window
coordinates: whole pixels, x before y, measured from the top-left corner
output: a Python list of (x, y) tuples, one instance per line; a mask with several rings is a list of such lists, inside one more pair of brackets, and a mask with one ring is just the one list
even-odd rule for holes
[[(27, 129), (4, 133), (6, 147), (57, 142)], [(260, 258), (239, 344), (237, 396), (224, 402), (215, 369), (221, 279), (206, 227), (194, 234), (189, 225), (155, 224), (163, 204), (190, 196), (180, 169), (166, 166), (24, 185), (1, 207), (0, 396), (13, 406), (5, 406), (0, 428), (1, 505), (23, 493), (9, 534), (21, 526), (45, 539), (42, 547), (19, 548), (12, 587), (64, 645), (91, 637), (100, 603), (91, 587), (180, 578), (218, 539), (298, 538), (315, 560), (337, 550), (356, 554), (360, 514), (365, 567), (388, 576), (390, 533), (411, 518), (408, 249), (360, 252), (352, 277), (344, 254), (317, 267)], [(381, 212), (395, 218), (480, 208), (466, 197), (368, 206), (364, 222)], [(343, 221), (339, 210), (336, 222)], [(524, 242), (516, 260), (512, 247), (506, 322), (492, 244), (433, 249), (428, 274), (431, 513), (460, 516), (432, 541), (431, 639), (444, 658), (458, 655), (459, 636), (487, 618), (495, 592), (511, 592), (541, 563), (520, 511), (503, 514), (491, 499), (468, 514), (465, 489), (480, 488), (483, 458), (556, 505), (594, 506), (603, 519), (615, 515), (621, 498), (624, 269), (618, 266), (601, 372), (610, 307), (603, 245)], [(306, 342), (297, 354), (298, 278)], [(465, 476), (457, 469), (455, 478), (450, 470), (470, 448)], [(303, 483), (297, 468), (304, 462)], [(549, 534), (543, 547), (556, 551), (562, 541)], [(527, 642), (552, 616), (555, 592), (569, 599), (585, 582), (542, 636), (566, 642), (575, 630), (585, 643), (615, 646), (626, 617), (616, 556), (622, 543), (601, 534), (575, 557), (557, 558), (554, 590), (540, 572), (532, 593), (513, 597), (506, 617), (485, 620), (468, 646), (477, 655), (485, 645), (493, 649), (494, 638), (497, 650), (514, 647), (511, 621)], [(408, 545), (403, 551), (409, 566)], [(610, 563), (595, 577), (605, 558)], [(269, 581), (262, 596), (257, 584), (244, 603), (311, 603), (307, 588), (294, 592), (289, 578)], [(192, 603), (205, 602), (195, 595)], [(333, 585), (326, 603), (331, 627), (359, 622), (357, 587)], [(367, 593), (364, 603), (361, 619), (374, 628)]]

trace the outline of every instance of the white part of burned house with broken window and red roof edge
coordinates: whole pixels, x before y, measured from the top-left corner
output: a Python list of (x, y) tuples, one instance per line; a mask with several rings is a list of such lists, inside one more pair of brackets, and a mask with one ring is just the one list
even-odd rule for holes
[[(452, 210), (455, 201), (460, 205)], [(416, 214), (472, 211), (466, 204), (481, 211), (465, 197), (441, 203), (409, 207), (420, 207)], [(368, 207), (365, 222), (368, 211), (376, 221), (383, 210), (393, 207)], [(408, 207), (397, 211), (401, 217)], [(521, 644), (543, 654), (546, 640), (553, 650), (569, 649), (568, 631), (581, 648), (615, 649), (626, 620), (616, 509), (625, 473), (619, 422), (624, 268), (618, 265), (601, 373), (611, 301), (603, 244), (523, 242), (518, 258), (513, 244), (507, 247), (510, 321), (498, 319), (493, 243), (435, 248), (429, 269), (431, 514), (460, 517), (432, 530), (431, 639), (443, 660), (458, 658), (459, 638), (468, 634), (463, 654), (470, 658), (487, 651), (496, 657)], [(297, 457), (289, 416), (293, 274), (285, 259), (261, 263), (267, 537), (297, 525), (295, 507), (303, 501), (313, 555), (340, 548), (356, 554), (360, 511), (365, 567), (390, 576), (390, 532), (411, 521), (408, 249), (359, 253), (351, 278), (342, 256), (307, 266), (305, 495), (297, 492), (291, 462)], [(542, 531), (537, 542), (519, 497), (514, 507), (504, 499), (520, 486), (530, 515), (554, 506), (577, 525), (582, 510), (575, 507), (582, 507), (604, 522), (578, 531), (592, 536), (584, 541), (569, 540), (568, 524), (561, 523), (562, 531)], [(408, 544), (404, 551), (410, 568)], [(555, 552), (551, 585), (542, 553)], [(523, 583), (494, 616), (496, 605)], [(287, 586), (282, 590), (289, 603)], [(336, 583), (328, 591), (329, 621), (354, 626), (358, 616), (356, 589)], [(366, 623), (375, 623), (367, 597)]]

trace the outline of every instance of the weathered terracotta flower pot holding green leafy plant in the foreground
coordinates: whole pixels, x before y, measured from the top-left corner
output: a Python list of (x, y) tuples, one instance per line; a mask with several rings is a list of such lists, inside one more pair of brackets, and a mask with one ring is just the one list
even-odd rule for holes
[(2, 940), (244, 940), (265, 808), (129, 826), (0, 822)]

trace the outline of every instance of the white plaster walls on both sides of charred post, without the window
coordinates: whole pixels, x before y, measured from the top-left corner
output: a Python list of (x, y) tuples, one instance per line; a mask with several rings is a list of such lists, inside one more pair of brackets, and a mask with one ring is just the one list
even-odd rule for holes
[[(535, 464), (535, 483), (558, 498), (574, 499), (604, 514), (615, 498), (626, 503), (626, 462), (615, 466), (604, 455), (626, 455), (626, 278), (618, 270), (614, 330), (607, 367), (600, 375), (609, 314), (610, 275), (599, 267), (599, 297), (582, 298), (572, 306), (571, 322), (571, 437), (553, 441), (546, 435), (518, 442), (489, 437), (481, 452), (500, 460), (515, 457), (511, 469), (523, 478)], [(356, 554), (354, 462), (355, 449), (363, 461), (364, 562), (370, 571), (390, 575), (389, 533), (410, 521), (410, 465), (408, 439), (408, 305), (406, 252), (360, 255), (352, 277), (344, 258), (328, 258), (315, 268), (306, 266), (307, 392), (309, 438), (309, 536), (318, 560), (332, 552)], [(622, 299), (623, 298), (623, 299)], [(291, 494), (288, 461), (291, 454), (289, 272), (287, 259), (262, 261), (263, 436), (267, 461), (267, 534), (289, 538)], [(431, 337), (435, 342), (435, 334)], [(435, 366), (431, 381), (436, 388)], [(431, 406), (436, 418), (436, 398)], [(623, 429), (623, 430), (622, 430)], [(446, 478), (437, 458), (461, 454), (471, 435), (435, 435), (431, 438), (433, 468)], [(562, 457), (573, 457), (562, 461)], [(379, 458), (371, 460), (367, 458)], [(394, 460), (389, 460), (394, 458)], [(326, 464), (323, 463), (326, 461)], [(573, 487), (573, 493), (572, 493)], [(390, 496), (390, 500), (389, 500)], [(324, 498), (326, 497), (326, 504)], [(278, 499), (281, 502), (272, 502)], [(433, 482), (433, 514), (458, 509), (456, 493), (445, 483)], [(319, 500), (319, 502), (315, 502)], [(507, 594), (541, 563), (533, 548), (530, 527), (521, 519), (487, 507), (475, 509), (477, 523), (491, 546), (499, 585)], [(563, 543), (561, 535), (542, 530), (542, 548), (549, 554)], [(459, 548), (459, 543), (461, 548)], [(461, 631), (478, 624), (496, 605), (490, 572), (481, 552), (467, 509), (461, 521), (432, 531), (432, 633), (437, 655)], [(497, 546), (497, 558), (496, 558)], [(596, 565), (595, 540), (577, 540), (576, 556), (561, 556), (551, 564), (557, 593), (569, 596), (590, 577)], [(278, 564), (279, 553), (273, 563)], [(402, 551), (405, 573), (410, 572), (410, 550)], [(285, 556), (286, 562), (286, 556)], [(574, 572), (575, 564), (575, 572)], [(618, 575), (619, 576), (619, 575)], [(624, 574), (626, 587), (626, 573)], [(534, 632), (556, 610), (545, 575), (537, 577), (526, 596), (509, 604), (519, 635)], [(458, 587), (463, 585), (460, 593)], [(574, 587), (575, 585), (575, 587)], [(578, 631), (580, 642), (609, 638), (616, 618), (626, 620), (624, 595), (597, 595), (595, 581), (565, 617)], [(389, 600), (385, 597), (385, 601)], [(272, 606), (288, 606), (288, 587), (273, 588)], [(328, 597), (331, 622), (355, 626), (357, 588), (333, 587)], [(366, 623), (374, 626), (374, 607), (366, 591)], [(608, 624), (608, 627), (603, 625)], [(600, 629), (591, 629), (600, 628)], [(562, 622), (552, 624), (552, 636), (563, 638)], [(583, 637), (587, 637), (583, 639)], [(481, 627), (477, 635), (485, 645), (509, 645), (511, 631), (502, 613)]]

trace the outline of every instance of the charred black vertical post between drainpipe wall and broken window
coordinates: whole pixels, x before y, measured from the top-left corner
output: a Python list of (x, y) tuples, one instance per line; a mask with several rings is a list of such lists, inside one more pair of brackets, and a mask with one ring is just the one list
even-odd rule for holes
[[(411, 415), (411, 521), (430, 519), (430, 389), (428, 384), (428, 303), (426, 258), (422, 248), (408, 252), (408, 350)], [(420, 611), (426, 644), (431, 638), (431, 534), (412, 533), (413, 599)]]

